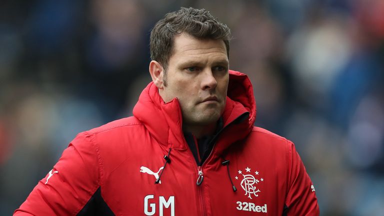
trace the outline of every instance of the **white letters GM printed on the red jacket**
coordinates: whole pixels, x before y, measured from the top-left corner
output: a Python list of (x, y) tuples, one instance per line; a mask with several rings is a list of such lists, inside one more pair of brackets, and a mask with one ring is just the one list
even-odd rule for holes
[[(146, 195), (144, 197), (144, 213), (145, 215), (153, 215), (156, 212), (156, 203), (149, 203), (149, 199), (152, 199), (153, 195)], [(159, 216), (163, 216), (163, 207), (168, 208), (170, 205), (170, 215), (174, 216), (174, 196), (169, 196), (168, 200), (165, 200), (164, 196), (158, 197)], [(148, 211), (148, 206), (150, 211)]]

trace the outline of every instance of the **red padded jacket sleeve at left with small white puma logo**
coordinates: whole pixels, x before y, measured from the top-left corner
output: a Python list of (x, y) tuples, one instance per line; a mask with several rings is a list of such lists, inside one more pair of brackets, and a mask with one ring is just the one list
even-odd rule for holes
[(79, 133), (13, 215), (75, 215), (99, 187), (99, 167), (92, 136)]

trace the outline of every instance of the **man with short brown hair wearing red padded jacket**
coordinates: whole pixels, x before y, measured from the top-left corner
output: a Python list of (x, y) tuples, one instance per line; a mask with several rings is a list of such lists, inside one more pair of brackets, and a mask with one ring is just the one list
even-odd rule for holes
[(166, 14), (133, 116), (78, 134), (14, 215), (318, 215), (293, 143), (253, 126), (229, 36), (204, 9)]

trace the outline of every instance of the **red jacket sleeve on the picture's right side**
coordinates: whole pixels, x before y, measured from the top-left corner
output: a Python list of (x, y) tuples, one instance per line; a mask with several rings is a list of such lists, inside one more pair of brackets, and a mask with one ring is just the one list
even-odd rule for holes
[(314, 186), (294, 144), (288, 141), (288, 190), (283, 215), (318, 216), (319, 208)]

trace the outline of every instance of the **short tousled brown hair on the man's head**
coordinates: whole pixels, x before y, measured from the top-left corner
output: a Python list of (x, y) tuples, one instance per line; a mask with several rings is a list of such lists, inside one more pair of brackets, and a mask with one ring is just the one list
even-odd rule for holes
[(174, 35), (185, 32), (198, 39), (222, 39), (229, 57), (230, 29), (206, 9), (185, 8), (165, 14), (150, 32), (150, 57), (167, 68)]

